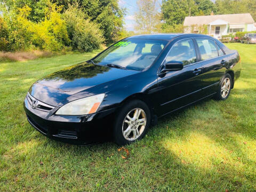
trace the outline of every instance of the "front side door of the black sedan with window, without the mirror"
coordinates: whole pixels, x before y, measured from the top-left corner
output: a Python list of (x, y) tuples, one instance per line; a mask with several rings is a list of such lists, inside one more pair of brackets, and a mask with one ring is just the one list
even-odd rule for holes
[[(159, 114), (166, 114), (196, 101), (200, 96), (201, 63), (198, 61), (195, 42), (192, 38), (175, 43), (167, 54), (163, 64), (170, 61), (182, 61), (179, 71), (158, 72)], [(164, 65), (163, 65), (164, 66)]]

